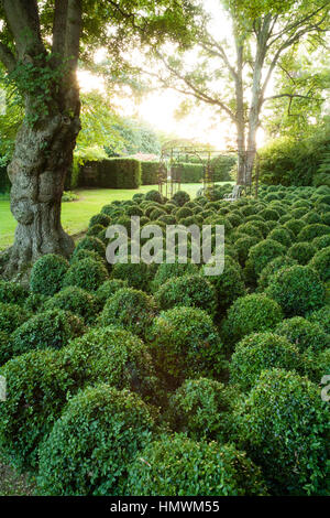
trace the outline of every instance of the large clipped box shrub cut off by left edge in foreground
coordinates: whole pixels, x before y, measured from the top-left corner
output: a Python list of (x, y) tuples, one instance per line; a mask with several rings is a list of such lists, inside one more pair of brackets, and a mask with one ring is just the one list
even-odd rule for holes
[(20, 471), (36, 470), (40, 442), (59, 418), (68, 393), (84, 380), (64, 359), (64, 350), (32, 350), (0, 369), (7, 379), (7, 400), (0, 404), (1, 454)]

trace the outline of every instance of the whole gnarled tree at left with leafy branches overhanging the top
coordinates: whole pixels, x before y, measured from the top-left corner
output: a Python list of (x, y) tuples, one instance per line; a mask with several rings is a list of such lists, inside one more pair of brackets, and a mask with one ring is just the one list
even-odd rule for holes
[[(2, 0), (0, 61), (24, 99), (24, 120), (8, 168), (18, 220), (7, 276), (48, 252), (70, 255), (61, 198), (80, 130), (78, 60), (114, 41), (156, 44), (188, 37), (191, 7), (176, 0)], [(111, 28), (111, 31), (109, 29)], [(112, 41), (109, 34), (113, 34)]]

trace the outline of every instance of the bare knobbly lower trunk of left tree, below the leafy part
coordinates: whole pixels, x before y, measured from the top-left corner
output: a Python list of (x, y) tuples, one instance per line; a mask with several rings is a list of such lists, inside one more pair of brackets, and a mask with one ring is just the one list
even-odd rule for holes
[[(44, 253), (69, 257), (73, 239), (61, 225), (61, 202), (64, 181), (73, 160), (73, 150), (80, 130), (79, 97), (75, 110), (58, 110), (31, 127), (24, 120), (8, 168), (11, 188), (11, 212), (18, 220), (14, 245), (6, 276), (13, 278), (29, 269)], [(63, 102), (65, 107), (66, 102)], [(61, 112), (62, 111), (62, 112)]]

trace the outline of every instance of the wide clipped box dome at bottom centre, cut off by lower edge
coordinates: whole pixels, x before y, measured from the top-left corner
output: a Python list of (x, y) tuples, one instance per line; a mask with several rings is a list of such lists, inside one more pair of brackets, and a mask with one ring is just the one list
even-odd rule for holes
[[(198, 467), (197, 467), (198, 466)], [(163, 435), (136, 456), (129, 470), (132, 496), (266, 495), (261, 471), (232, 445)]]

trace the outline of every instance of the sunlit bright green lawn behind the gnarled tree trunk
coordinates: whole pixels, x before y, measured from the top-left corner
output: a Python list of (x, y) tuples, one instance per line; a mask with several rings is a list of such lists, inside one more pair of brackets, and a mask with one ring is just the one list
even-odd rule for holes
[[(200, 187), (200, 183), (182, 186), (191, 197), (196, 196)], [(147, 193), (152, 188), (158, 190), (158, 186), (143, 185), (139, 190), (125, 191), (113, 188), (76, 191), (79, 195), (79, 201), (62, 205), (63, 227), (70, 235), (82, 233), (87, 229), (91, 216), (99, 213), (103, 205), (114, 199), (131, 199), (135, 193)], [(4, 250), (12, 245), (15, 226), (16, 222), (10, 212), (9, 199), (0, 198), (0, 250)]]

